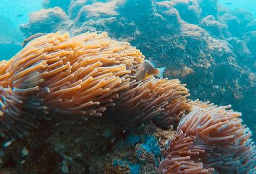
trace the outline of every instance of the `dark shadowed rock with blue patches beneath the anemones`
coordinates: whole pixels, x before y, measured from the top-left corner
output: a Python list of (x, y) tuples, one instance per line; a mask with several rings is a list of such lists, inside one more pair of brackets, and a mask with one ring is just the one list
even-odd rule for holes
[[(104, 130), (112, 134), (102, 136)], [(157, 173), (159, 151), (154, 148), (150, 154), (153, 163), (144, 163), (136, 156), (136, 145), (159, 145), (163, 152), (168, 139), (175, 131), (163, 131), (150, 123), (126, 131), (119, 123), (102, 118), (92, 118), (88, 122), (76, 121), (72, 124), (53, 118), (42, 129), (32, 132), (29, 137), (16, 141), (0, 154), (1, 172), (9, 173)], [(131, 142), (132, 136), (140, 137)], [(148, 136), (148, 140), (147, 140)], [(115, 141), (111, 139), (116, 138)], [(135, 139), (136, 139), (135, 138)], [(143, 138), (145, 142), (143, 143)], [(44, 139), (44, 140), (43, 140)], [(154, 141), (150, 141), (154, 139)], [(146, 141), (147, 140), (147, 141)], [(122, 148), (113, 147), (124, 142)], [(21, 147), (29, 153), (22, 156)], [(157, 152), (157, 153), (155, 153)], [(149, 159), (146, 159), (149, 160)], [(25, 161), (24, 163), (20, 163)], [(156, 161), (156, 163), (155, 163)]]

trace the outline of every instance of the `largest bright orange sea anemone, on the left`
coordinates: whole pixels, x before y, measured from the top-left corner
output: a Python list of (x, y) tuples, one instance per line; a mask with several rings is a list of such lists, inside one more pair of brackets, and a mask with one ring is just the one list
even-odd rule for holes
[(0, 63), (1, 135), (20, 136), (50, 115), (100, 116), (129, 87), (129, 74), (143, 58), (106, 33), (36, 38)]

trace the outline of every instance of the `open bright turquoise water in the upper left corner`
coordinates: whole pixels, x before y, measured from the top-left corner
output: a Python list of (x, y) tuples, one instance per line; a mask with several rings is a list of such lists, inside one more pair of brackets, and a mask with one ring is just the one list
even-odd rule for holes
[(0, 1), (0, 59), (9, 59), (21, 49), (24, 35), (20, 24), (29, 20), (29, 13), (42, 8), (42, 1)]

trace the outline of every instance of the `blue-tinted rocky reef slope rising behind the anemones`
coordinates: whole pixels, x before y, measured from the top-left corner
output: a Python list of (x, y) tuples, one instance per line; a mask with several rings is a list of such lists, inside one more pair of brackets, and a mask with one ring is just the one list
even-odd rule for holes
[[(58, 3), (51, 2), (51, 8), (54, 2)], [(159, 66), (170, 70), (188, 67), (193, 73), (182, 77), (180, 73), (166, 75), (185, 81), (193, 99), (232, 104), (253, 128), (256, 113), (248, 112), (248, 108), (255, 108), (256, 103), (255, 86), (250, 81), (250, 74), (255, 73), (255, 19), (250, 12), (228, 10), (212, 0), (79, 0), (64, 4), (61, 8), (67, 14), (68, 24), (58, 24), (52, 31), (69, 31), (70, 35), (107, 31), (112, 38), (138, 47), (149, 59), (157, 59)], [(105, 13), (102, 9), (106, 5)], [(25, 25), (28, 29), (22, 30), (24, 35), (51, 28), (47, 22), (38, 24), (41, 31), (30, 28), (31, 25)], [(244, 102), (248, 107), (243, 107)]]

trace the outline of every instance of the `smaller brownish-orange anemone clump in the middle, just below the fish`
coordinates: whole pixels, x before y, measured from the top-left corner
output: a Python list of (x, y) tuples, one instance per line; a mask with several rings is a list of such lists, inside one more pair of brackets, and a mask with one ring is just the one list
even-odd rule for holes
[(191, 107), (189, 90), (179, 79), (146, 79), (131, 81), (122, 91), (115, 114), (127, 124), (152, 120), (160, 127), (170, 128)]

